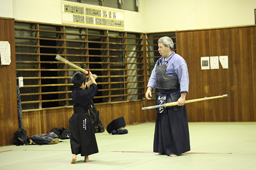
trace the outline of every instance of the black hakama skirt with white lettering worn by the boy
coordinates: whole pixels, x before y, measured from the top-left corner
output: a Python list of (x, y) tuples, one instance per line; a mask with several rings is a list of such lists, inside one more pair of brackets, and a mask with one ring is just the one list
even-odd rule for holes
[(99, 152), (90, 115), (85, 112), (84, 108), (74, 107), (74, 114), (69, 119), (69, 126), (72, 154), (87, 156)]

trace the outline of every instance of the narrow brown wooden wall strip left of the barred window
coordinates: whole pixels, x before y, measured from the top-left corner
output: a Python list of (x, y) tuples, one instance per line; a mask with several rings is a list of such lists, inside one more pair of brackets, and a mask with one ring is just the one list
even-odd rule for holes
[(0, 146), (13, 144), (19, 129), (15, 63), (14, 20), (0, 18), (0, 41), (11, 45), (11, 64), (0, 65)]

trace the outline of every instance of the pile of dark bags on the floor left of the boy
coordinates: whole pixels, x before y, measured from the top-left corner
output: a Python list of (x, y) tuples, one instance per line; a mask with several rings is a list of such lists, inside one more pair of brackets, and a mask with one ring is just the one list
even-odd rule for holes
[(54, 127), (48, 134), (37, 134), (30, 138), (27, 136), (26, 130), (20, 128), (15, 132), (13, 136), (13, 144), (20, 146), (24, 144), (56, 144), (59, 143), (60, 139), (69, 139), (71, 134), (70, 129), (65, 129), (64, 127), (57, 128)]

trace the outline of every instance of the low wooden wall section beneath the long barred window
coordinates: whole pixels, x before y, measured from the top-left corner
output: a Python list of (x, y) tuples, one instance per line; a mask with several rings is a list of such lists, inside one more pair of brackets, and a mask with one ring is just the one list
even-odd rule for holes
[[(144, 107), (144, 101), (132, 101), (116, 104), (95, 104), (100, 112), (100, 120), (106, 129), (107, 125), (124, 116), (126, 125), (155, 121), (156, 111), (151, 110), (145, 113), (141, 110)], [(23, 128), (27, 131), (28, 136), (35, 134), (48, 133), (54, 127), (64, 127), (69, 129), (69, 118), (73, 114), (73, 108), (61, 108), (52, 110), (23, 112), (22, 122)]]

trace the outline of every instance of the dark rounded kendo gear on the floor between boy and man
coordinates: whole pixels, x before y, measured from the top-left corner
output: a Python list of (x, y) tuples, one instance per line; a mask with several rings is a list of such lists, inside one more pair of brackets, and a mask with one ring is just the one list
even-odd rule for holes
[(128, 130), (125, 129), (126, 123), (124, 121), (124, 117), (119, 117), (113, 121), (111, 121), (106, 130), (109, 134), (127, 134)]

